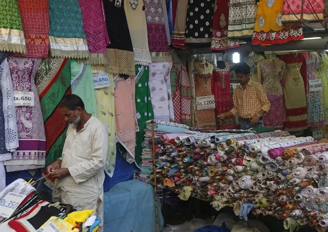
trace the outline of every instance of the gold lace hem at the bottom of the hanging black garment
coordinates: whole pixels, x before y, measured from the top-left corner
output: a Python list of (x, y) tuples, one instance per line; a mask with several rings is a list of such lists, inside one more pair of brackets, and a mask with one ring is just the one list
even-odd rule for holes
[(136, 75), (132, 51), (108, 48), (107, 62), (107, 71), (109, 73)]

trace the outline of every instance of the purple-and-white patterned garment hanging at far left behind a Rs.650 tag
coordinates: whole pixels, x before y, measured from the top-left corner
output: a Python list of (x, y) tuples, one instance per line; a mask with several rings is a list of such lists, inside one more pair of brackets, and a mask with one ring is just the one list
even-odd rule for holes
[(25, 170), (30, 169), (28, 165), (44, 167), (46, 158), (45, 129), (38, 92), (34, 84), (35, 73), (40, 63), (41, 59), (8, 57), (14, 91), (32, 92), (34, 95), (34, 106), (15, 107), (20, 146), (12, 152), (12, 160), (5, 161), (5, 165), (25, 166)]

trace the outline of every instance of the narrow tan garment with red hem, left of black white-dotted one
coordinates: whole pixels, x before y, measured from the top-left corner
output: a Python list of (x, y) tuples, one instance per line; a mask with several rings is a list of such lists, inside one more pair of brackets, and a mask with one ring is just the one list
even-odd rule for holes
[(173, 35), (172, 35), (172, 45), (178, 48), (187, 48), (184, 45), (185, 40), (185, 30), (186, 30), (186, 19), (187, 19), (187, 7), (188, 0), (173, 0), (176, 4), (176, 8), (172, 9), (173, 14)]

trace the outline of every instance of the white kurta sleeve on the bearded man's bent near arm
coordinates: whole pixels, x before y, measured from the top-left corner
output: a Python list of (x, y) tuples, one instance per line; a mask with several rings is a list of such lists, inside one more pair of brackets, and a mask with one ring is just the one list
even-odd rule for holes
[(88, 161), (77, 163), (68, 168), (71, 177), (79, 184), (104, 169), (104, 157), (107, 155), (108, 134), (106, 129), (97, 128), (92, 141), (92, 153)]

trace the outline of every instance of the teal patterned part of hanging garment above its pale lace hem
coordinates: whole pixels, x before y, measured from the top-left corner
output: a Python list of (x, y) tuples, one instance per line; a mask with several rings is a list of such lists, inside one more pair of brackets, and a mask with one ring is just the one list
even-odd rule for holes
[(50, 36), (86, 39), (78, 0), (49, 0), (49, 17)]

